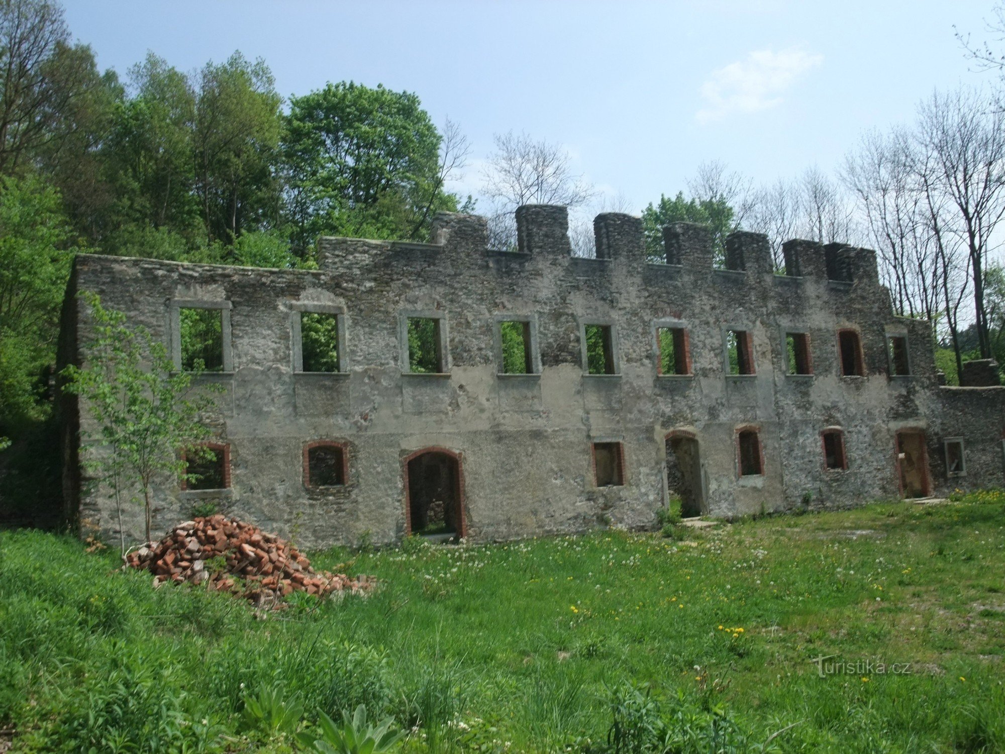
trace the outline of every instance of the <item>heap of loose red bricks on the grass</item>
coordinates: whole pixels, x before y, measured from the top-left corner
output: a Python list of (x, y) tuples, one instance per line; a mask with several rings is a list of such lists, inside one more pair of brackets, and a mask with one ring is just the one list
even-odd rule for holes
[(262, 602), (293, 591), (325, 596), (373, 588), (367, 576), (315, 571), (296, 548), (258, 527), (223, 516), (186, 521), (158, 543), (129, 554), (134, 568), (154, 574), (156, 583), (191, 581)]

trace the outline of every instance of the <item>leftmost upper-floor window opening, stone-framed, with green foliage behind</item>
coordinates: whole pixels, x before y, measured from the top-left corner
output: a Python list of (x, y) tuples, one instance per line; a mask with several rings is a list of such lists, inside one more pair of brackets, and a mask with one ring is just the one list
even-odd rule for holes
[(230, 311), (225, 300), (173, 299), (168, 306), (171, 360), (179, 372), (234, 371)]

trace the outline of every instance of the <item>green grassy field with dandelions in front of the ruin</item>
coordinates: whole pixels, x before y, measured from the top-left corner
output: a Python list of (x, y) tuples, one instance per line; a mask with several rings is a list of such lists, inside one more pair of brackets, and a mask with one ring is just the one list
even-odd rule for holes
[(365, 704), (405, 752), (1005, 751), (1005, 494), (676, 536), (313, 553), (382, 586), (256, 615), (0, 534), (0, 728), (295, 751), (244, 712), (264, 693), (301, 728)]

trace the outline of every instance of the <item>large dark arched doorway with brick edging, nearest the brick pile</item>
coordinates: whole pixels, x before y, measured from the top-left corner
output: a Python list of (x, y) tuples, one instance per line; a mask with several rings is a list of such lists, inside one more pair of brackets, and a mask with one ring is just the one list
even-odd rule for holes
[(405, 533), (463, 537), (464, 483), (459, 453), (427, 447), (404, 459)]

